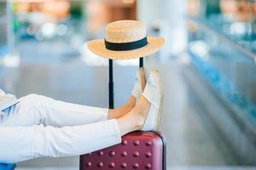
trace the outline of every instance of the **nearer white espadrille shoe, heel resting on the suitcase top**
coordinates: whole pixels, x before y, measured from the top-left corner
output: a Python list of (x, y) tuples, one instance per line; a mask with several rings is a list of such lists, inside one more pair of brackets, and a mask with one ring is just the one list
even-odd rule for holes
[(158, 131), (163, 105), (163, 83), (159, 71), (151, 71), (143, 96), (151, 103), (142, 131)]

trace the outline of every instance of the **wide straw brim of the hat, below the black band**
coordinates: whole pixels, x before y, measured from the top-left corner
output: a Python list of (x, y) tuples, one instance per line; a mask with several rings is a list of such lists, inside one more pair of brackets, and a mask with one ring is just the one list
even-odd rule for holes
[(87, 43), (90, 51), (100, 57), (107, 59), (136, 59), (154, 54), (165, 43), (163, 37), (147, 37), (148, 44), (143, 48), (137, 48), (127, 51), (113, 51), (105, 48), (104, 40), (92, 40)]

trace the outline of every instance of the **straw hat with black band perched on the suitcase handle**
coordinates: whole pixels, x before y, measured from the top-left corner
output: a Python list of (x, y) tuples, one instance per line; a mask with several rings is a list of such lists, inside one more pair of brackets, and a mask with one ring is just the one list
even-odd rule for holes
[(146, 26), (137, 20), (119, 20), (106, 26), (105, 40), (88, 42), (94, 54), (108, 59), (136, 59), (154, 54), (164, 44), (163, 37), (147, 37)]

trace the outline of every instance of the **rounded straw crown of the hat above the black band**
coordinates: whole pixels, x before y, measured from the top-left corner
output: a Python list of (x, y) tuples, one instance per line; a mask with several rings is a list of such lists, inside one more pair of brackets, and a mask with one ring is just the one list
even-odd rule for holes
[(146, 36), (146, 26), (137, 20), (115, 21), (105, 29), (105, 40), (108, 42), (135, 42)]

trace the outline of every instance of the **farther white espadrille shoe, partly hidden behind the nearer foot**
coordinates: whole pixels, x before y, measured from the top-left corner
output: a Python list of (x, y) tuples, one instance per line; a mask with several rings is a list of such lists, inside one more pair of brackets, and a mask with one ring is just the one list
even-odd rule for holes
[(143, 89), (146, 86), (146, 69), (144, 67), (139, 68), (136, 78), (136, 82), (134, 83), (131, 90), (131, 95), (134, 96), (136, 100), (138, 100), (143, 94)]

